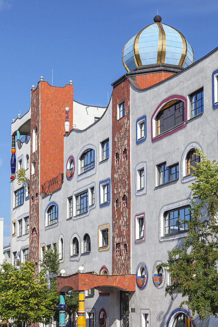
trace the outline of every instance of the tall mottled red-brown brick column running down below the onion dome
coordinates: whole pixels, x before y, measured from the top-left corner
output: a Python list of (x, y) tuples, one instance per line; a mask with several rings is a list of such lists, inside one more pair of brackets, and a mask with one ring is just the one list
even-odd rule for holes
[[(117, 120), (117, 104), (125, 101), (125, 116)], [(127, 150), (127, 160), (123, 151)], [(119, 164), (116, 165), (116, 153)], [(114, 87), (112, 95), (112, 272), (130, 274), (131, 266), (131, 183), (130, 183), (130, 84), (127, 79)], [(122, 198), (127, 196), (127, 206), (122, 208)], [(118, 199), (118, 208), (115, 201)], [(121, 255), (116, 256), (116, 244), (120, 243)], [(124, 254), (124, 244), (127, 253)]]

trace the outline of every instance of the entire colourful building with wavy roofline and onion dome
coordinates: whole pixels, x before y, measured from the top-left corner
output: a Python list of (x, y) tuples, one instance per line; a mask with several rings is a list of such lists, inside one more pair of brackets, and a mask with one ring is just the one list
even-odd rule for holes
[(11, 127), (11, 262), (38, 271), (56, 244), (73, 274), (58, 290), (85, 292), (86, 326), (203, 326), (179, 294), (165, 298), (170, 276), (157, 266), (187, 234), (178, 218), (191, 219), (195, 149), (218, 157), (218, 48), (193, 62), (182, 33), (155, 16), (122, 61), (106, 108), (75, 101), (72, 81), (32, 86)]

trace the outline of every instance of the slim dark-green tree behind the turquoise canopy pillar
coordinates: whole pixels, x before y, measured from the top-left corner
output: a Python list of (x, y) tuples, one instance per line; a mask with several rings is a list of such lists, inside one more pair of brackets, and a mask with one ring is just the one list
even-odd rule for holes
[[(51, 292), (56, 293), (56, 308), (54, 310), (54, 320), (59, 321), (59, 311), (57, 306), (59, 304), (59, 292), (57, 292), (57, 279), (56, 276), (60, 273), (60, 264), (59, 264), (59, 251), (55, 246), (53, 250), (45, 250), (44, 260), (42, 261), (45, 269), (53, 275), (50, 281)], [(74, 312), (78, 311), (79, 307), (79, 292), (72, 290), (65, 293), (65, 303), (67, 305), (66, 316), (69, 315), (69, 318)]]

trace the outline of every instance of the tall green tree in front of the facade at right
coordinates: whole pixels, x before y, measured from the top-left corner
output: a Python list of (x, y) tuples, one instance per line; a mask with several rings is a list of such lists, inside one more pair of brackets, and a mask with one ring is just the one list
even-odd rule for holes
[(168, 262), (162, 266), (171, 276), (165, 296), (172, 300), (175, 292), (185, 297), (182, 305), (187, 305), (192, 315), (200, 320), (207, 315), (216, 316), (218, 311), (218, 163), (210, 162), (203, 151), (201, 162), (194, 168), (195, 182), (192, 190), (192, 217), (188, 224), (187, 237), (181, 248), (168, 251)]

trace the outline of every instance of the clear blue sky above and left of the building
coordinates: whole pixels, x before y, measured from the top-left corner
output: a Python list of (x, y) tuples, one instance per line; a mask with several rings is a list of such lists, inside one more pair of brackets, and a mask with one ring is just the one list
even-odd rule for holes
[[(0, 216), (10, 240), (11, 122), (30, 105), (40, 76), (73, 80), (74, 99), (107, 105), (111, 83), (125, 73), (125, 43), (157, 13), (191, 43), (195, 61), (218, 46), (217, 0), (0, 0)], [(55, 135), (55, 134), (53, 134)]]

